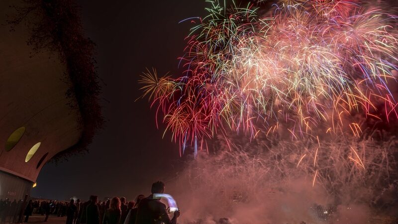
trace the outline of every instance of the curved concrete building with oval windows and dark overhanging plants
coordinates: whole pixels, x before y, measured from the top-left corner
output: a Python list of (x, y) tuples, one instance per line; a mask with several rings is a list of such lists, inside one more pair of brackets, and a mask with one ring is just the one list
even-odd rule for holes
[(102, 124), (94, 44), (70, 2), (0, 1), (2, 200), (23, 199), (47, 161), (84, 151)]

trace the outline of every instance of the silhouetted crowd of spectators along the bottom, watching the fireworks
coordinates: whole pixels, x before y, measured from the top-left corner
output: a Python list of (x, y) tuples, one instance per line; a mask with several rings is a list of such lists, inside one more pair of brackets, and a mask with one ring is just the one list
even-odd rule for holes
[(0, 200), (1, 223), (27, 223), (33, 214), (66, 217), (66, 224), (177, 224), (180, 211), (175, 211), (172, 219), (165, 204), (153, 194), (163, 194), (165, 184), (157, 181), (152, 184), (151, 195), (138, 195), (134, 201), (114, 197), (100, 202), (98, 196), (90, 196), (88, 201), (71, 199), (69, 202), (22, 200), (10, 202)]

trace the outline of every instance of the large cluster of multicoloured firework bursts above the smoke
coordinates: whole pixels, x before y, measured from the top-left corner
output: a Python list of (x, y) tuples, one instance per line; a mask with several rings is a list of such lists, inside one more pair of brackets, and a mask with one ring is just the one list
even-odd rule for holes
[(360, 137), (364, 118), (395, 122), (394, 15), (359, 0), (280, 0), (262, 14), (256, 4), (209, 2), (208, 15), (193, 18), (182, 76), (140, 80), (181, 153), (192, 145), (196, 155), (229, 129), (319, 141), (346, 130)]

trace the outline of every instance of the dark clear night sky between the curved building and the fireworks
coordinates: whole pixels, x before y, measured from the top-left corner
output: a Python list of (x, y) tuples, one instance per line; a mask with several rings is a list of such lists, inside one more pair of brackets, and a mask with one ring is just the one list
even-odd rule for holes
[[(102, 80), (105, 127), (94, 138), (90, 153), (58, 165), (46, 164), (32, 196), (86, 200), (91, 194), (125, 196), (149, 194), (156, 180), (167, 183), (181, 166), (178, 144), (162, 139), (155, 110), (142, 94), (139, 76), (146, 68), (159, 75), (178, 71), (184, 38), (192, 26), (179, 21), (205, 15), (204, 0), (80, 0), (86, 35), (97, 44)], [(167, 186), (166, 186), (167, 191)]]

